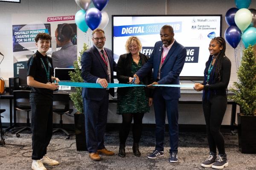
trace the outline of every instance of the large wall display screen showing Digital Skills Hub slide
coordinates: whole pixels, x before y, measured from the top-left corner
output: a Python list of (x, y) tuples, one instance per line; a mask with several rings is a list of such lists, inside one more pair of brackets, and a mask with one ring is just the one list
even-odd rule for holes
[(222, 15), (113, 15), (112, 50), (117, 62), (125, 54), (125, 42), (130, 36), (137, 36), (142, 43), (141, 53), (150, 56), (154, 44), (160, 41), (160, 29), (171, 25), (175, 40), (186, 47), (186, 62), (180, 77), (201, 79), (205, 62), (209, 57), (209, 42), (221, 36)]

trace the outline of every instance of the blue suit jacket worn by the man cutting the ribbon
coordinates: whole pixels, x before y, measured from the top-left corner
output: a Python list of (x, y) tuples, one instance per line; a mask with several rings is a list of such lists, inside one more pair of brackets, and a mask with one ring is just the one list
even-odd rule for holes
[[(154, 51), (152, 52), (148, 62), (136, 73), (140, 79), (143, 79), (143, 77), (145, 77), (153, 68), (153, 80), (155, 82), (157, 81), (162, 52), (163, 42), (158, 41), (154, 45)], [(185, 63), (185, 58), (186, 48), (175, 40), (163, 62), (160, 70), (160, 80), (157, 81), (158, 84), (180, 84), (179, 76)], [(163, 98), (166, 100), (180, 98), (180, 88), (160, 87), (160, 89)]]

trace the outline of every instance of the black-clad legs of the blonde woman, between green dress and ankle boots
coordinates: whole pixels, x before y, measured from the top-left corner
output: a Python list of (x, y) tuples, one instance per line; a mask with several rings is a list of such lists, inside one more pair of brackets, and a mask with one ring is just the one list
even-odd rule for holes
[(122, 125), (119, 130), (119, 139), (121, 144), (125, 144), (126, 142), (126, 139), (130, 132), (130, 125), (131, 125), (132, 119), (134, 120), (134, 124), (132, 127), (134, 143), (140, 142), (143, 116), (144, 116), (144, 113), (123, 113), (122, 114)]

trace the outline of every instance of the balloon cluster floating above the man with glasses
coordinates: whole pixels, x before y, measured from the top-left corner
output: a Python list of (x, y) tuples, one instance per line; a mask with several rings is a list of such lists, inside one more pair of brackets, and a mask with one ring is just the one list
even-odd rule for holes
[[(95, 30), (96, 28), (104, 29), (108, 25), (108, 13), (102, 11), (108, 4), (108, 0), (93, 0), (95, 8), (89, 8), (91, 0), (75, 0), (81, 10), (76, 12), (76, 26), (83, 32), (88, 28)], [(88, 9), (89, 8), (89, 9)]]

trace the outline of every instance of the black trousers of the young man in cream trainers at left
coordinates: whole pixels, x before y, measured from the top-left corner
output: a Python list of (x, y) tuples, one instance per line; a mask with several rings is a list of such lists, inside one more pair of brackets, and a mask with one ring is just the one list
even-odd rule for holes
[(31, 104), (32, 159), (43, 158), (52, 138), (52, 105)]

